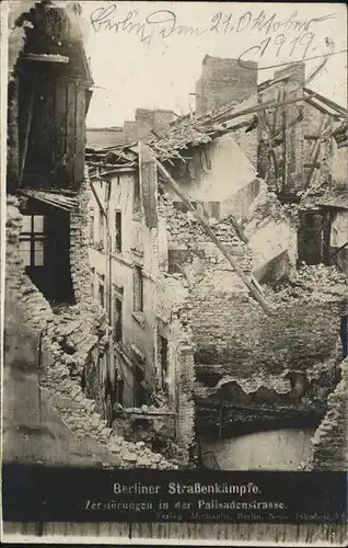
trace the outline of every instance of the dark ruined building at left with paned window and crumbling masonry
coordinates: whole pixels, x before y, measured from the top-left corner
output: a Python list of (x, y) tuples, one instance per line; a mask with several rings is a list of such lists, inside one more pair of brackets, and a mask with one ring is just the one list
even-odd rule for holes
[[(63, 433), (62, 441), (56, 439), (63, 450), (47, 454), (45, 444), (34, 443), (33, 453), (24, 449), (13, 457), (18, 445), (9, 442), (4, 458), (71, 464), (78, 447), (82, 465), (175, 468), (143, 445), (113, 435), (101, 398), (91, 398), (86, 381), (104, 359), (109, 330), (105, 310), (91, 296), (84, 148), (92, 77), (79, 18), (77, 2), (46, 0), (14, 2), (10, 13), (7, 421), (9, 431), (21, 432), (28, 414), (35, 434), (42, 432), (43, 416), (55, 416), (47, 427)], [(18, 367), (33, 378), (23, 401)], [(104, 393), (103, 379), (95, 383)], [(28, 401), (37, 409), (26, 409)]]

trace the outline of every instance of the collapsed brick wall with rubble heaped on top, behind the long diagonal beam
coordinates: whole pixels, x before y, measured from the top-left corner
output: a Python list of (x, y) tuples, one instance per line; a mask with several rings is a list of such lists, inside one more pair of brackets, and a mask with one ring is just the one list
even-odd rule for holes
[(299, 424), (306, 418), (317, 425), (337, 384), (345, 276), (323, 265), (295, 271), (297, 206), (268, 198), (268, 192), (260, 195), (242, 226), (248, 244), (235, 236), (232, 218), (208, 221), (247, 275), (255, 272), (253, 235), (271, 222), (291, 227), (290, 240), (283, 243), (289, 252), (286, 275), (275, 276), (274, 289), (264, 286), (272, 309), (269, 317), (193, 216), (164, 199), (169, 270), (188, 285), (182, 320), (190, 327), (196, 349), (198, 431), (217, 425), (220, 399), (232, 406), (224, 413), (227, 425), (276, 421), (280, 415)]

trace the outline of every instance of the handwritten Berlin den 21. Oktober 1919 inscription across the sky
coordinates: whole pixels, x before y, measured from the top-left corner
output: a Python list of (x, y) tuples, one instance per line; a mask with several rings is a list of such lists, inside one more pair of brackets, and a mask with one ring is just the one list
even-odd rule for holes
[(317, 44), (314, 44), (317, 24), (334, 18), (335, 14), (329, 13), (321, 18), (301, 20), (297, 10), (285, 19), (280, 19), (276, 12), (267, 14), (265, 10), (258, 11), (257, 14), (247, 10), (242, 15), (219, 11), (210, 16), (206, 26), (193, 26), (183, 24), (171, 10), (155, 10), (142, 14), (135, 9), (121, 13), (118, 4), (106, 3), (91, 13), (90, 21), (96, 33), (126, 33), (136, 36), (146, 45), (152, 44), (155, 37), (165, 41), (171, 36), (198, 37), (232, 33), (255, 36), (256, 33), (259, 41), (240, 55), (240, 59), (245, 61), (259, 60), (266, 54), (305, 59), (317, 50)]

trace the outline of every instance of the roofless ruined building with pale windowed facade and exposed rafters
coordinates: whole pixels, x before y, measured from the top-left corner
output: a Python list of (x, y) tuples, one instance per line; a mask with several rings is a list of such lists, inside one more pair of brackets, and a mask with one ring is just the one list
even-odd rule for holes
[[(314, 187), (334, 195), (346, 178), (339, 160), (346, 151), (334, 141), (344, 113), (330, 104), (329, 127), (315, 139), (327, 100), (303, 90), (300, 72), (293, 77), (291, 68), (263, 87), (254, 82), (242, 101), (179, 118), (147, 146), (88, 150), (91, 290), (113, 327), (103, 376), (118, 380), (115, 427), (166, 413), (173, 418), (166, 434), (185, 452), (194, 436), (204, 446), (209, 432), (271, 425), (314, 432), (324, 416), (340, 376), (346, 285), (336, 248), (345, 237), (345, 207), (332, 212), (328, 252), (315, 260), (304, 249), (303, 215), (312, 212)], [(276, 93), (259, 104), (262, 93), (279, 85), (289, 85), (289, 93), (295, 87), (301, 96), (286, 103), (287, 95)], [(304, 119), (309, 109), (313, 127), (302, 124), (298, 105)], [(276, 133), (286, 124), (283, 171), (277, 173), (277, 142), (267, 141), (267, 164), (263, 151), (263, 127), (271, 119)], [(311, 140), (304, 129), (316, 149), (332, 150), (327, 168), (316, 152), (312, 167), (304, 156), (302, 163), (293, 158), (293, 132)], [(333, 466), (343, 466), (339, 458)]]

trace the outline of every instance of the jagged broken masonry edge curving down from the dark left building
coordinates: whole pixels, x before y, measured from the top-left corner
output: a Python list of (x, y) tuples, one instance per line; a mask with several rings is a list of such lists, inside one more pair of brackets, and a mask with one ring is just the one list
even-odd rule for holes
[(40, 335), (40, 386), (48, 391), (49, 401), (62, 422), (76, 438), (92, 439), (98, 453), (104, 449), (106, 466), (176, 468), (175, 464), (149, 450), (142, 443), (128, 443), (113, 435), (106, 421), (96, 412), (95, 401), (85, 397), (80, 383), (81, 373), (92, 353), (105, 347), (104, 312), (98, 305), (81, 300), (55, 315), (24, 273), (19, 254), (22, 216), (13, 196), (8, 197), (7, 215), (5, 321), (20, 309), (25, 329), (32, 331), (33, 338)]

